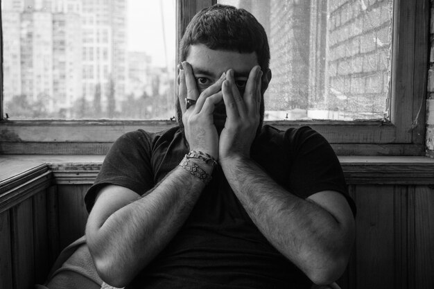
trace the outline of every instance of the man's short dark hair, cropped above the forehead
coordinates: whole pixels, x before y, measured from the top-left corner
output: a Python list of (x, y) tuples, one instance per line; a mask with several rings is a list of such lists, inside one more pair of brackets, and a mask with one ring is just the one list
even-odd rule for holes
[(180, 44), (180, 60), (186, 60), (189, 48), (205, 44), (209, 49), (255, 52), (262, 71), (270, 64), (266, 31), (247, 10), (215, 4), (198, 12), (186, 27)]

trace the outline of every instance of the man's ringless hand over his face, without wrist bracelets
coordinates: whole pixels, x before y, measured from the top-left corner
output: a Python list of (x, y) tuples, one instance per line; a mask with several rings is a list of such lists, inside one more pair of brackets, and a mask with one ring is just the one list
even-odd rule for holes
[(220, 162), (227, 159), (250, 158), (250, 147), (257, 133), (261, 107), (261, 67), (255, 66), (249, 73), (244, 95), (235, 84), (234, 71), (229, 69), (222, 85), (227, 119), (220, 134)]

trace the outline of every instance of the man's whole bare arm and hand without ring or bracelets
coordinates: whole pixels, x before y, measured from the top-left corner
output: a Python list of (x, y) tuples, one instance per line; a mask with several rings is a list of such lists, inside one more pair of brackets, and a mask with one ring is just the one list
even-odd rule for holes
[(220, 134), (220, 164), (237, 198), (270, 243), (314, 283), (332, 283), (345, 270), (354, 241), (351, 209), (345, 197), (333, 191), (298, 198), (250, 159), (259, 125), (261, 76), (254, 67), (241, 97), (233, 71), (227, 72), (222, 86), (227, 121)]

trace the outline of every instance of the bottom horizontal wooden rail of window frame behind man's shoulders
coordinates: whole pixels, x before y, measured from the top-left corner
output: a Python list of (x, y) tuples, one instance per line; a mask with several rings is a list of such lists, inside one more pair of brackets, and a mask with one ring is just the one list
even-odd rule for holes
[[(266, 122), (279, 130), (309, 125), (322, 134), (337, 155), (425, 155), (424, 135), (400, 139), (397, 128), (383, 122)], [(159, 132), (176, 121), (0, 121), (3, 155), (105, 155), (125, 132)]]

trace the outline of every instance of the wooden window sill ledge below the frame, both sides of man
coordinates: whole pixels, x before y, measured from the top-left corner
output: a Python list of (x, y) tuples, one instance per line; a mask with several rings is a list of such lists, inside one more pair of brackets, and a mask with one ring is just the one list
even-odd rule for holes
[[(93, 184), (103, 155), (0, 155), (1, 196), (28, 179), (49, 175), (51, 184)], [(338, 157), (348, 184), (434, 184), (429, 157)]]

